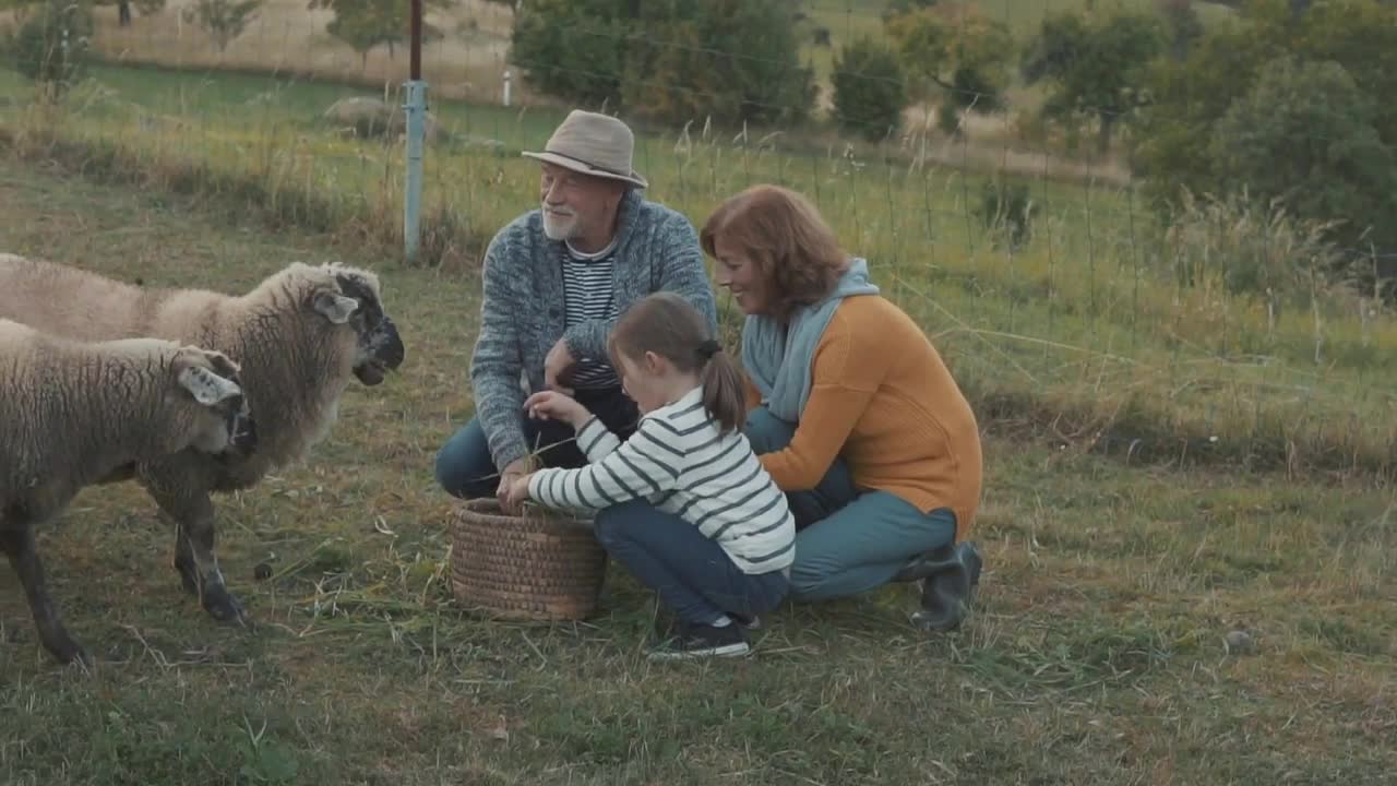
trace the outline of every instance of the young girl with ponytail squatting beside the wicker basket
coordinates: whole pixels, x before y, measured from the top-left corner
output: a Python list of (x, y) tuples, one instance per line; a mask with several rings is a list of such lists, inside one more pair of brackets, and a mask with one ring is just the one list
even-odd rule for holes
[(636, 302), (608, 347), (641, 411), (622, 443), (581, 404), (531, 396), (531, 417), (571, 424), (588, 466), (515, 480), (509, 501), (595, 513), (597, 538), (678, 617), (652, 657), (743, 655), (747, 625), (787, 594), (795, 520), (739, 431), (743, 383), (676, 295)]

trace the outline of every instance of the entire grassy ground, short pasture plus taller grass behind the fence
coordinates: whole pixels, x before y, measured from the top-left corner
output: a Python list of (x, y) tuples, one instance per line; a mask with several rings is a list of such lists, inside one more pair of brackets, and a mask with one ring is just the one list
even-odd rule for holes
[[(835, 35), (841, 6), (849, 25), (876, 18), (810, 6)], [(1179, 249), (1109, 172), (1011, 164), (1007, 147), (643, 129), (650, 196), (696, 224), (752, 182), (814, 196), (926, 326), (986, 434), (986, 575), (963, 631), (918, 634), (915, 593), (894, 586), (787, 604), (740, 663), (661, 669), (643, 657), (651, 599), (617, 568), (587, 624), (486, 622), (450, 600), (432, 463), (472, 406), (475, 259), (535, 203), (517, 152), (562, 110), (433, 94), (448, 138), (426, 157), (429, 264), (408, 267), (401, 145), (320, 119), (372, 91), (92, 76), (46, 115), (0, 70), (0, 250), (226, 291), (298, 259), (369, 264), (408, 361), (351, 389), (305, 466), (219, 499), (254, 629), (183, 594), (172, 533), (134, 485), (85, 491), (41, 536), (95, 676), (46, 660), (0, 571), (0, 782), (1391, 779), (1397, 324), (1358, 294), (1299, 294), (1274, 319), (1228, 294), (1218, 277), (1256, 236), (1201, 235), (1183, 250), (1208, 267), (1182, 287)], [(975, 217), (996, 168), (1038, 208), (1013, 252)], [(253, 579), (258, 562), (272, 579)]]

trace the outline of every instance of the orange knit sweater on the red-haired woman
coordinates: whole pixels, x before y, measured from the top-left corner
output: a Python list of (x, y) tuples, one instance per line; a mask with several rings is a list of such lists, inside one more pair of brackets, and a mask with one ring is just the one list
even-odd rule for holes
[[(760, 404), (750, 380), (747, 404)], [(975, 414), (922, 329), (877, 295), (845, 298), (834, 310), (795, 438), (760, 459), (789, 492), (814, 488), (841, 453), (856, 487), (922, 512), (950, 508), (964, 538), (982, 481)]]

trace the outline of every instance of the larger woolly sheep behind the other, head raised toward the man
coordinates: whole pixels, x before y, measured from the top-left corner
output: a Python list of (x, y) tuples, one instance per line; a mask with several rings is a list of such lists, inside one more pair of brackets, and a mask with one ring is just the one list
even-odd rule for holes
[(292, 263), (243, 295), (134, 287), (75, 267), (0, 255), (0, 317), (77, 338), (155, 336), (218, 350), (242, 366), (257, 413), (249, 456), (144, 462), (138, 477), (176, 524), (173, 565), (187, 592), (219, 621), (246, 624), (214, 555), (211, 492), (249, 490), (303, 460), (338, 417), (351, 376), (381, 383), (404, 359), (376, 274), (339, 263)]

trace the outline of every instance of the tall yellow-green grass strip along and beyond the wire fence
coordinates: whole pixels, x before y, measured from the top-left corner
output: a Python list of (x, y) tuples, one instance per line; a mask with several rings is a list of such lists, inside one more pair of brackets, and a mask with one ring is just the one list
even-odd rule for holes
[[(101, 69), (64, 110), (17, 108), (8, 127), (24, 155), (250, 207), (274, 225), (313, 227), (397, 256), (401, 150), (395, 140), (345, 138), (317, 117), (345, 92)], [(457, 113), (444, 103), (437, 112), (451, 137), (429, 151), (425, 259), (455, 270), (536, 199), (535, 169), (515, 152), (542, 144), (557, 117)], [(481, 134), (503, 145), (474, 147)], [(678, 140), (641, 136), (637, 159), (651, 197), (696, 224), (753, 182), (810, 193), (996, 417), (1130, 460), (1301, 477), (1389, 478), (1397, 469), (1397, 399), (1377, 362), (1397, 341), (1390, 313), (1361, 316), (1355, 299), (1329, 292), (1317, 312), (1277, 313), (1207, 281), (1186, 287), (1175, 274), (1182, 246), (1151, 231), (1130, 192), (1046, 176), (1028, 182), (1038, 204), (1031, 242), (996, 246), (975, 217), (983, 179), (935, 162), (884, 165), (866, 152), (789, 151), (694, 127)], [(1224, 263), (1236, 249), (1270, 243), (1187, 242), (1189, 255)]]

